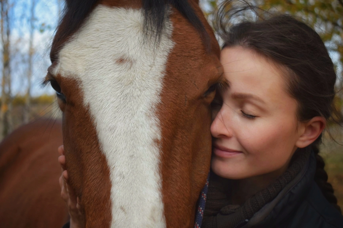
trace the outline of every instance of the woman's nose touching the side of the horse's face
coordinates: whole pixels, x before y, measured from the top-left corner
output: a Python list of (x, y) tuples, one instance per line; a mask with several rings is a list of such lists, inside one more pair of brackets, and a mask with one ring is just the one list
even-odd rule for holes
[(232, 131), (229, 126), (229, 113), (225, 110), (220, 110), (211, 124), (211, 134), (215, 138), (227, 138), (232, 136)]

